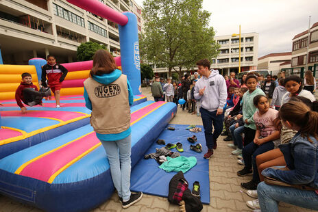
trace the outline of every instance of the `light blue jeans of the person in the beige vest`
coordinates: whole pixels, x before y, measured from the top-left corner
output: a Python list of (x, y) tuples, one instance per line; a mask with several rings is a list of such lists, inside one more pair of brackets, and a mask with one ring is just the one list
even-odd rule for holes
[[(131, 135), (118, 141), (101, 141), (110, 163), (112, 182), (123, 201), (130, 200)], [(107, 183), (107, 182), (105, 182)]]

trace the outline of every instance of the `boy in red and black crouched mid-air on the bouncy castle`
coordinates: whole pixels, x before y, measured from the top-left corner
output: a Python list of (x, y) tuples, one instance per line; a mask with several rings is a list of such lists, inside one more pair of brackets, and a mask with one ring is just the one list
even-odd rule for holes
[[(16, 88), (16, 103), (21, 108), (23, 114), (27, 112), (27, 109), (23, 105), (42, 105), (42, 98), (44, 96), (49, 96), (51, 94), (51, 90), (49, 88), (41, 88), (38, 91), (36, 85), (32, 83), (32, 75), (28, 72), (25, 72), (21, 75), (22, 82), (18, 88)], [(22, 103), (23, 102), (23, 103)]]

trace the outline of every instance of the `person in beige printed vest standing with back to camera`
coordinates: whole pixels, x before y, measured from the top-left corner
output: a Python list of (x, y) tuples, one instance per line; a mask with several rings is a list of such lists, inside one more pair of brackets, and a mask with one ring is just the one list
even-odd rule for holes
[(130, 192), (130, 105), (134, 96), (126, 75), (117, 69), (108, 51), (96, 51), (90, 77), (84, 81), (84, 98), (92, 110), (90, 124), (106, 150), (119, 200), (123, 208), (130, 207), (143, 197), (142, 192)]

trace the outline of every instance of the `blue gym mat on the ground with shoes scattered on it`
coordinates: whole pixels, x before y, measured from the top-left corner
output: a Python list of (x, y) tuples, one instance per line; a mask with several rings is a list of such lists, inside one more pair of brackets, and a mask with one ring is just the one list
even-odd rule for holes
[[(167, 127), (174, 127), (175, 131), (168, 130)], [(168, 124), (167, 127), (159, 135), (158, 139), (164, 140), (166, 144), (177, 144), (180, 142), (183, 146), (184, 152), (181, 156), (197, 157), (197, 164), (188, 170), (184, 177), (189, 183), (189, 189), (192, 191), (193, 183), (199, 181), (201, 185), (201, 202), (203, 204), (210, 204), (210, 180), (209, 180), (209, 165), (208, 159), (204, 159), (204, 153), (208, 150), (206, 147), (206, 140), (204, 138), (203, 126), (197, 125), (202, 129), (202, 132), (192, 133), (186, 130), (188, 125), (182, 124)], [(197, 136), (197, 142), (202, 145), (202, 152), (196, 153), (190, 150), (191, 143), (188, 142), (187, 137), (192, 135)], [(157, 141), (157, 140), (156, 140)], [(147, 150), (146, 154), (156, 153), (156, 148), (161, 148), (164, 145), (159, 145), (154, 142)], [(193, 144), (194, 145), (194, 144)], [(178, 152), (176, 148), (171, 149), (173, 152)], [(169, 182), (177, 172), (165, 172), (159, 168), (159, 164), (155, 159), (140, 159), (132, 170), (130, 182), (132, 191), (143, 191), (145, 194), (154, 196), (168, 197)]]

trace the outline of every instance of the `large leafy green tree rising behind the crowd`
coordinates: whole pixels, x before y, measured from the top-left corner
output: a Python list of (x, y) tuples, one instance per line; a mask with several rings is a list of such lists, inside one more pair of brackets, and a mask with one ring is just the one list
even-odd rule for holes
[(202, 0), (145, 0), (145, 33), (140, 38), (140, 55), (148, 62), (165, 64), (171, 70), (191, 70), (195, 62), (216, 57), (219, 45), (208, 27), (210, 13)]

